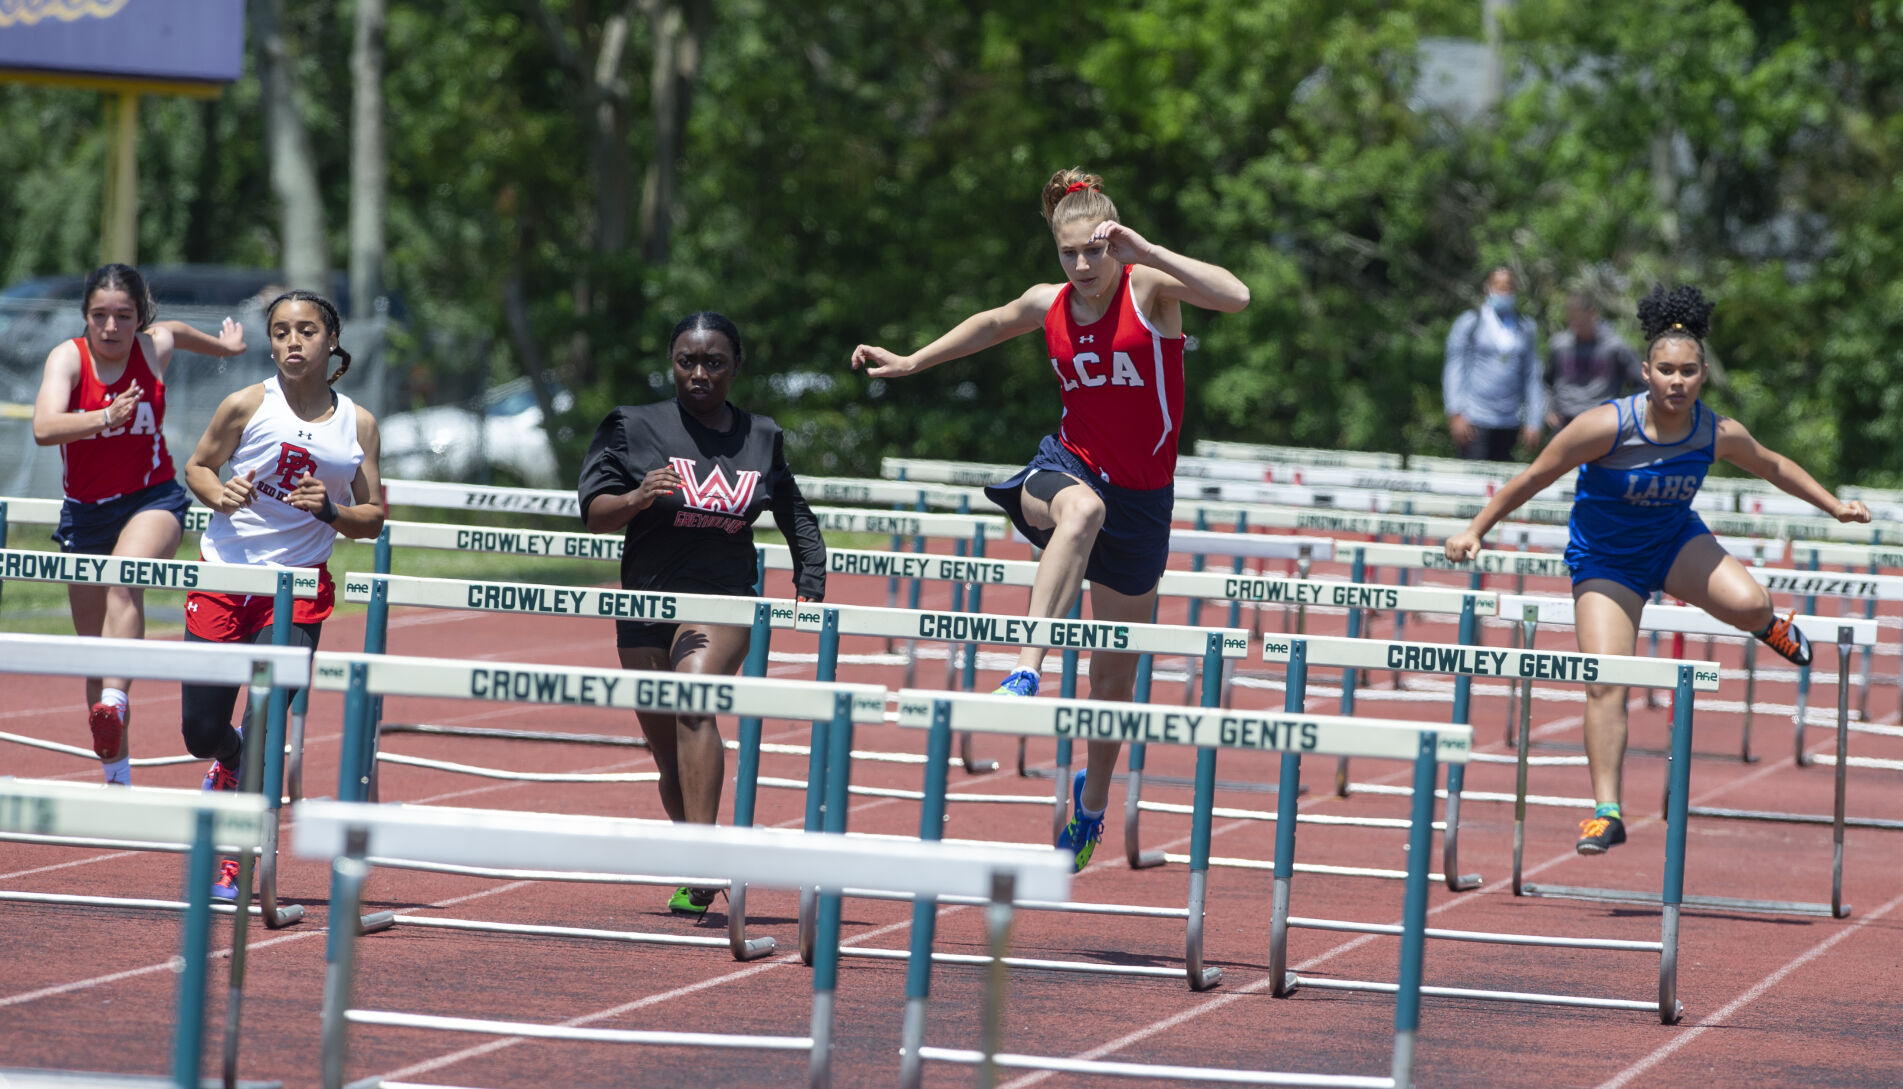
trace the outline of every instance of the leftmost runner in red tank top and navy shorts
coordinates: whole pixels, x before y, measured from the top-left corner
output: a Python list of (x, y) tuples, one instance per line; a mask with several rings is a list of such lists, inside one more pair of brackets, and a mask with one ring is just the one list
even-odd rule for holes
[[(59, 446), (67, 503), (53, 541), (65, 552), (169, 560), (179, 548), (188, 499), (166, 451), (166, 367), (185, 348), (206, 356), (244, 350), (244, 327), (225, 320), (217, 337), (185, 322), (152, 322), (145, 278), (105, 265), (80, 295), (86, 335), (46, 356), (32, 402), (32, 438)], [(145, 594), (129, 586), (67, 586), (72, 628), (82, 636), (145, 636)], [(86, 703), (93, 752), (107, 782), (129, 782), (126, 678), (91, 678)]]

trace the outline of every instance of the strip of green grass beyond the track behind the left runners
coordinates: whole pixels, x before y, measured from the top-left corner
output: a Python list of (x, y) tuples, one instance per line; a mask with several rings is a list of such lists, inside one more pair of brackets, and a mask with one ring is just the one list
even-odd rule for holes
[[(784, 539), (775, 529), (757, 529), (761, 544)], [(834, 533), (828, 544), (835, 548), (891, 548), (891, 537), (873, 533)], [(8, 537), (10, 548), (51, 552), (53, 543), (44, 525), (21, 525)], [(181, 560), (198, 558), (198, 535), (186, 533), (179, 544)], [(369, 541), (339, 541), (331, 552), (331, 577), (343, 581), (346, 571), (375, 571), (375, 544)], [(487, 552), (447, 552), (438, 548), (398, 550), (390, 569), (396, 575), (428, 579), (476, 579), (544, 583), (552, 586), (609, 586), (620, 577), (620, 567), (607, 560), (565, 560), (558, 556), (497, 556)], [(367, 605), (337, 602), (337, 615), (356, 615)], [(147, 634), (166, 636), (185, 630), (185, 594), (152, 590), (147, 596)], [(72, 615), (67, 611), (67, 588), (59, 583), (0, 584), (0, 632), (42, 636), (70, 636)]]

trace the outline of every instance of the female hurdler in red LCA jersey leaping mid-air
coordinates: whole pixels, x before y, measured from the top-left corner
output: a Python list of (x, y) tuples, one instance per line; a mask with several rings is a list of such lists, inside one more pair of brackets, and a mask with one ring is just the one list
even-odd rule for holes
[[(1037, 284), (972, 314), (910, 356), (860, 345), (853, 366), (875, 379), (913, 375), (1045, 331), (1064, 402), (1058, 434), (1037, 457), (986, 489), (1045, 554), (1031, 617), (1062, 617), (1090, 579), (1098, 621), (1149, 621), (1170, 543), (1176, 444), (1184, 407), (1182, 305), (1233, 314), (1248, 287), (1227, 268), (1172, 253), (1117, 219), (1094, 173), (1060, 169), (1045, 183), (1043, 213), (1056, 240), (1062, 284)], [(997, 691), (1037, 695), (1045, 651), (1026, 647)], [(1136, 655), (1090, 655), (1090, 697), (1127, 701)], [(1115, 741), (1092, 741), (1071, 782), (1071, 821), (1058, 847), (1081, 870), (1104, 836), (1117, 763)]]

